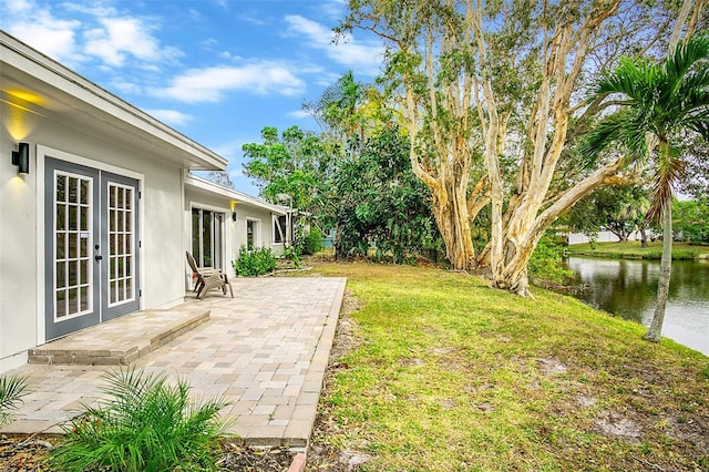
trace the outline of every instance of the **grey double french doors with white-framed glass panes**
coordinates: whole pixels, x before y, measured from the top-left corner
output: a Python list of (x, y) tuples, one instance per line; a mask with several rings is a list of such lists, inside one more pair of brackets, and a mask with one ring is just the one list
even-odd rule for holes
[(140, 309), (138, 182), (45, 160), (45, 339)]

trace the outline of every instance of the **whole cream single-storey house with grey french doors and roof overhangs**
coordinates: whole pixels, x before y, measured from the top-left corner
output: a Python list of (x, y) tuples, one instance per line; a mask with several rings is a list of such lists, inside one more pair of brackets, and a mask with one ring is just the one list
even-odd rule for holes
[[(49, 340), (182, 302), (185, 250), (228, 269), (248, 222), (270, 244), (286, 213), (191, 176), (227, 161), (3, 31), (0, 112), (0, 372)], [(207, 227), (223, 238), (207, 245)]]

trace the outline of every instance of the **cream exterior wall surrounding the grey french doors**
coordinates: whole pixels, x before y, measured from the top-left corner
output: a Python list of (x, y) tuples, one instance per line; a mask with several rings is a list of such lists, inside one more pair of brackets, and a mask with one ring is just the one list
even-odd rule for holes
[[(16, 107), (0, 102), (0, 372), (27, 361), (27, 350), (44, 341), (43, 331), (43, 157), (44, 155), (138, 178), (141, 308), (182, 301), (182, 168), (146, 155), (142, 141), (115, 142), (59, 121), (31, 115), (18, 134)], [(18, 176), (10, 155), (30, 143), (30, 174)], [(146, 158), (150, 157), (150, 158)]]

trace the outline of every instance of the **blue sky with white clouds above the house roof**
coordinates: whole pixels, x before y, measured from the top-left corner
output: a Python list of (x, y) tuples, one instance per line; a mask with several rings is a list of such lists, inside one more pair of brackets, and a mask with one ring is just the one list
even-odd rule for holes
[(319, 132), (302, 111), (347, 71), (371, 82), (381, 41), (333, 42), (345, 0), (0, 0), (0, 29), (229, 161), (265, 126)]

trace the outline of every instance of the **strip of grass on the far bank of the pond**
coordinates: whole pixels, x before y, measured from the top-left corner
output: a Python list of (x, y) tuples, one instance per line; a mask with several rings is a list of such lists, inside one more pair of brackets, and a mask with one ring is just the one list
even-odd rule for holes
[[(590, 245), (575, 244), (565, 248), (569, 255), (608, 257), (618, 259), (660, 259), (662, 257), (662, 242), (648, 243), (648, 247), (640, 247), (639, 242), (596, 243)], [(691, 260), (698, 257), (709, 257), (709, 246), (696, 246), (687, 243), (672, 243), (672, 259)]]

